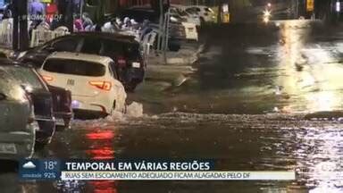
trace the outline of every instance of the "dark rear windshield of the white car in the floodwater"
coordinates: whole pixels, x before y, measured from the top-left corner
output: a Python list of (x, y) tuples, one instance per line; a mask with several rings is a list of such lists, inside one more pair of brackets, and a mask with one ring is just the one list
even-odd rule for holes
[(99, 77), (105, 75), (105, 66), (100, 63), (71, 59), (49, 59), (44, 64), (45, 71), (79, 76)]

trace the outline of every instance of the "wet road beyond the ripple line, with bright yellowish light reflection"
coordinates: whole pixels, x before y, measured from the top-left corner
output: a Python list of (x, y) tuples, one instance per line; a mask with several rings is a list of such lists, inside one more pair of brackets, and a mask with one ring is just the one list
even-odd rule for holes
[(341, 110), (342, 38), (326, 28), (287, 21), (213, 29), (197, 75), (154, 102), (188, 113)]

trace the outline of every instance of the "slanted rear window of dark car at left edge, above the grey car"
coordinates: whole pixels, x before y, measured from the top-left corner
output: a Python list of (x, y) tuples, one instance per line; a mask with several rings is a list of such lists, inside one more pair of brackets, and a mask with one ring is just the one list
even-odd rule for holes
[(33, 70), (20, 66), (4, 66), (5, 71), (13, 75), (15, 80), (19, 81), (21, 85), (30, 86), (31, 88), (44, 88), (43, 83), (38, 78)]

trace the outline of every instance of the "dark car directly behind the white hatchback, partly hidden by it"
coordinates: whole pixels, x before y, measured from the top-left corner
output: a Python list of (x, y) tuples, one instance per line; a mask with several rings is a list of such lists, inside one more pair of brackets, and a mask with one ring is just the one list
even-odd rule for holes
[(30, 49), (18, 60), (40, 68), (46, 57), (56, 51), (111, 57), (118, 67), (119, 79), (128, 91), (134, 90), (144, 80), (146, 63), (141, 47), (134, 37), (126, 35), (104, 32), (73, 33)]

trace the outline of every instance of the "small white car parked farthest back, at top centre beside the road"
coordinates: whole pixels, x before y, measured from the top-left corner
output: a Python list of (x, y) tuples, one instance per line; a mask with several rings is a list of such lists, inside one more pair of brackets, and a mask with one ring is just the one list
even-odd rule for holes
[(184, 7), (185, 11), (190, 14), (197, 14), (200, 17), (202, 23), (215, 21), (215, 13), (210, 7), (203, 5), (190, 5)]

